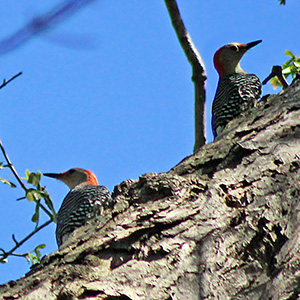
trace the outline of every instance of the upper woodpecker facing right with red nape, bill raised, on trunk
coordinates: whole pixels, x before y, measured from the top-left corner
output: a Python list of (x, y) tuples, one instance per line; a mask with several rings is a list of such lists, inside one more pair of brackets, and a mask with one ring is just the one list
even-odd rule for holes
[(229, 121), (246, 108), (253, 107), (261, 94), (261, 82), (254, 74), (247, 74), (240, 66), (243, 55), (261, 40), (248, 44), (230, 43), (214, 55), (219, 83), (212, 105), (212, 127), (215, 138)]

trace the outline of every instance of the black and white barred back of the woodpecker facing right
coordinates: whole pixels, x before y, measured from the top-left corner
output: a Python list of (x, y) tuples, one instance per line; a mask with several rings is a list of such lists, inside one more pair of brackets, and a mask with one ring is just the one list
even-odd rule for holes
[(227, 123), (253, 107), (261, 94), (261, 82), (254, 74), (232, 74), (219, 79), (212, 105), (212, 127), (215, 138)]

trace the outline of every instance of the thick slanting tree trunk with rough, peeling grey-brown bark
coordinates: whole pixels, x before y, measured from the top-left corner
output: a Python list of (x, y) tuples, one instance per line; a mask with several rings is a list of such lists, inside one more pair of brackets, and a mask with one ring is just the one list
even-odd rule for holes
[[(180, 142), (180, 141), (179, 141)], [(1, 299), (298, 299), (300, 83), (117, 204)]]

